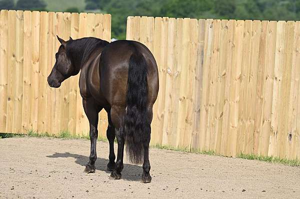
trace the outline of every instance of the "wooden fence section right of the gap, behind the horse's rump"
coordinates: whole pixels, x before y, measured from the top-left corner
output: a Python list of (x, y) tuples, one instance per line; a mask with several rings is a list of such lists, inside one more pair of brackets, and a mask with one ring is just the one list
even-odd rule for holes
[(159, 68), (151, 142), (300, 158), (300, 21), (127, 18)]

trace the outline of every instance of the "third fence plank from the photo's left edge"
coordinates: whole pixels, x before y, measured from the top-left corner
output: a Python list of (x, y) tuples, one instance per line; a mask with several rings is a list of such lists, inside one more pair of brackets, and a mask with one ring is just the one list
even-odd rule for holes
[(15, 102), (13, 115), (14, 133), (22, 132), (22, 95), (23, 95), (23, 43), (24, 43), (24, 12), (16, 11), (15, 24)]

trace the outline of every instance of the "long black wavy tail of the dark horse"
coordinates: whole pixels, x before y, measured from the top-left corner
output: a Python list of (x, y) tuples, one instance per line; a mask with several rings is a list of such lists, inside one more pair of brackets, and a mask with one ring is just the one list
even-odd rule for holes
[(144, 143), (150, 140), (147, 96), (147, 63), (135, 48), (129, 59), (124, 135), (127, 157), (136, 165), (142, 163)]

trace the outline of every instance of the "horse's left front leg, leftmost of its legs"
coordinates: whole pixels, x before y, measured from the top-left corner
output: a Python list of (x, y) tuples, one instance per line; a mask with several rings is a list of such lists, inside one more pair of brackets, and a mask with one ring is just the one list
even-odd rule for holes
[(90, 139), (90, 155), (89, 161), (85, 166), (84, 172), (93, 173), (95, 172), (95, 161), (97, 159), (96, 143), (98, 138), (98, 113), (99, 108), (92, 98), (83, 99), (83, 109), (89, 122), (89, 139)]

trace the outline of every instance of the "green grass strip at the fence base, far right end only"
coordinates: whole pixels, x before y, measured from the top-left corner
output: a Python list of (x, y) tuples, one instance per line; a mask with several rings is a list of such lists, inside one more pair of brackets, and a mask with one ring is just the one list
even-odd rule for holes
[(278, 164), (288, 165), (292, 167), (300, 166), (300, 161), (298, 159), (287, 160), (284, 158), (281, 159), (273, 156), (259, 156), (254, 154), (243, 154), (243, 153), (238, 154), (236, 158), (247, 159), (247, 160), (258, 160), (258, 161), (263, 161), (268, 163), (278, 163)]

